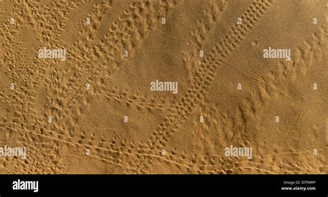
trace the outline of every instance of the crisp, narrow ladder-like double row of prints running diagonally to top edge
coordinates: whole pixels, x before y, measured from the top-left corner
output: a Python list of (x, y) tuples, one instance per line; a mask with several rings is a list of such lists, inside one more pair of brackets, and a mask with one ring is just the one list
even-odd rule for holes
[(183, 122), (191, 113), (194, 106), (201, 102), (212, 79), (215, 77), (215, 71), (222, 65), (224, 58), (232, 53), (233, 49), (244, 39), (246, 33), (255, 26), (269, 6), (271, 6), (271, 1), (267, 1), (266, 3), (255, 1), (252, 3), (242, 16), (242, 21), (244, 21), (244, 23), (242, 25), (236, 24), (231, 28), (230, 32), (228, 32), (228, 35), (221, 40), (220, 44), (215, 46), (204, 62), (201, 63), (188, 93), (177, 105), (177, 113), (170, 114), (165, 118), (165, 122), (162, 122), (161, 125), (158, 126), (157, 131), (153, 133), (149, 140), (149, 144), (152, 144), (151, 147), (154, 147), (154, 144), (163, 147), (169, 135), (172, 135), (174, 131), (176, 131), (179, 122)]

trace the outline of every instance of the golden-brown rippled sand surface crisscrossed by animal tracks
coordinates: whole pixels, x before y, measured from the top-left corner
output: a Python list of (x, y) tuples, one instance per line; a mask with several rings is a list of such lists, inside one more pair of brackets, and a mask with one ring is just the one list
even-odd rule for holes
[(0, 173), (327, 173), (327, 10), (0, 0)]

